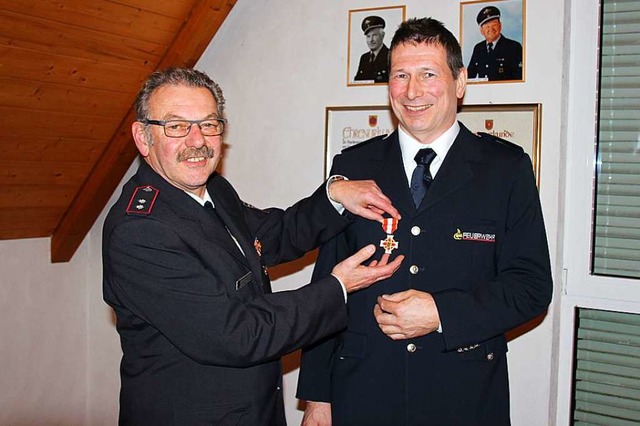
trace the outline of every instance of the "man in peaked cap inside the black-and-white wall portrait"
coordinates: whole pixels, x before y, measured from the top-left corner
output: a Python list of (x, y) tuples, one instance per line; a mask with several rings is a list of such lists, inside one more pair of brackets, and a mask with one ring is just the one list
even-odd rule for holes
[(375, 83), (389, 81), (389, 48), (384, 44), (386, 23), (379, 16), (367, 16), (362, 20), (362, 31), (367, 39), (369, 52), (360, 57), (355, 81), (371, 80)]

